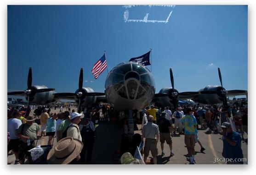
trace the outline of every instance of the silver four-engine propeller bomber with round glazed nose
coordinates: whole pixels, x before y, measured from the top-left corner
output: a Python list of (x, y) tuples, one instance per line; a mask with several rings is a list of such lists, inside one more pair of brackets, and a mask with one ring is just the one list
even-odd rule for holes
[(152, 73), (146, 66), (134, 61), (120, 63), (109, 73), (105, 82), (105, 93), (97, 93), (90, 87), (83, 87), (83, 68), (80, 70), (79, 87), (74, 93), (56, 93), (54, 88), (32, 86), (32, 69), (28, 72), (28, 88), (25, 91), (11, 92), (8, 95), (25, 95), (29, 103), (49, 104), (59, 99), (73, 99), (81, 107), (91, 108), (99, 101), (108, 102), (115, 110), (141, 110), (152, 101), (162, 107), (174, 106), (179, 99), (192, 99), (201, 104), (227, 104), (227, 96), (246, 95), (246, 90), (229, 90), (222, 86), (222, 76), (218, 68), (221, 86), (206, 86), (198, 92), (179, 93), (174, 88), (172, 69), (170, 69), (171, 87), (162, 88), (155, 93), (155, 82)]

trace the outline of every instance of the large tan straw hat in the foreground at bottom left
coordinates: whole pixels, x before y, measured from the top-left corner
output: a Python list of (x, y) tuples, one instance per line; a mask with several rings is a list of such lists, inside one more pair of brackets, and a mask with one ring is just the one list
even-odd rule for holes
[(69, 164), (83, 148), (83, 142), (72, 137), (61, 139), (48, 153), (48, 164)]

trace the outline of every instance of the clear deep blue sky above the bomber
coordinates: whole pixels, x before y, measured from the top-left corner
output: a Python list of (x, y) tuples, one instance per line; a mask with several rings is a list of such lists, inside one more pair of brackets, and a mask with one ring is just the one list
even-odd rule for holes
[[(129, 19), (172, 14), (167, 23), (125, 22), (125, 10)], [(247, 13), (247, 5), (9, 5), (7, 88), (26, 89), (31, 66), (33, 85), (74, 92), (83, 67), (84, 86), (104, 92), (107, 70), (91, 74), (104, 50), (110, 71), (151, 48), (156, 93), (171, 86), (169, 68), (179, 92), (220, 85), (217, 67), (224, 88), (247, 90)]]

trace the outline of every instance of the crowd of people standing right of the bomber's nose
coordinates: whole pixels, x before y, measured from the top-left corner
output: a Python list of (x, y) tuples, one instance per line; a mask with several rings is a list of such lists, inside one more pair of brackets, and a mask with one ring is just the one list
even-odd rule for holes
[[(248, 134), (248, 108), (243, 105), (237, 107), (230, 105), (228, 108), (217, 106), (199, 107), (196, 105), (181, 106), (171, 112), (169, 107), (165, 109), (151, 105), (149, 109), (143, 109), (142, 113), (142, 140), (145, 138), (144, 161), (146, 162), (149, 150), (153, 156), (154, 164), (157, 164), (157, 142), (160, 141), (162, 156), (165, 155), (164, 143), (170, 147), (170, 157), (174, 155), (172, 151), (173, 135), (178, 132), (184, 134), (185, 146), (188, 149), (188, 161), (195, 164), (195, 143), (202, 146), (198, 137), (198, 129), (207, 129), (208, 133), (212, 131), (222, 134), (223, 151), (222, 156), (225, 159), (238, 159), (239, 161), (228, 161), (227, 164), (243, 164), (243, 152), (241, 141), (248, 142), (244, 138), (244, 132)], [(233, 116), (231, 118), (231, 116)], [(232, 124), (234, 126), (232, 128)], [(174, 124), (174, 125), (173, 125)], [(220, 131), (220, 129), (222, 131)], [(238, 133), (240, 131), (240, 134)]]

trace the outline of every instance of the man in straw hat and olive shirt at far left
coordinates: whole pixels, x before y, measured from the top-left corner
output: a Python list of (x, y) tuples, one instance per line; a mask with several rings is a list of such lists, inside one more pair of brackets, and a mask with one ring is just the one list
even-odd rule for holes
[(17, 130), (17, 135), (21, 139), (18, 154), (20, 164), (24, 164), (27, 151), (36, 146), (34, 141), (40, 137), (39, 126), (34, 123), (34, 120), (34, 116), (28, 116), (27, 122), (19, 126)]

